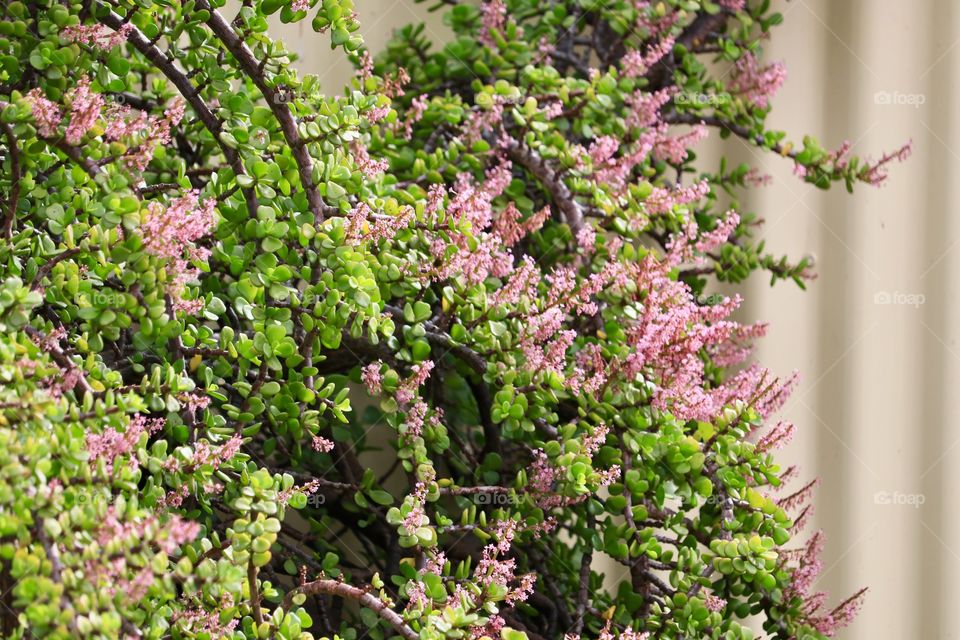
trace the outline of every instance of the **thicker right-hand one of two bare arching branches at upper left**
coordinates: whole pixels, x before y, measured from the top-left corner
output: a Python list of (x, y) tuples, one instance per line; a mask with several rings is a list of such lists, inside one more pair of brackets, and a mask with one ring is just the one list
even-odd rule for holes
[(307, 195), (307, 203), (310, 206), (310, 211), (313, 212), (314, 218), (317, 222), (320, 222), (324, 217), (335, 214), (336, 210), (323, 201), (323, 198), (320, 197), (320, 191), (313, 183), (313, 159), (310, 157), (306, 144), (301, 140), (300, 133), (297, 131), (297, 122), (293, 117), (293, 112), (284, 101), (278, 98), (279, 92), (277, 88), (267, 84), (263, 69), (254, 57), (250, 47), (237, 35), (227, 21), (223, 19), (223, 16), (214, 9), (209, 0), (197, 0), (196, 6), (198, 9), (209, 13), (207, 26), (210, 27), (214, 35), (220, 39), (227, 50), (233, 54), (233, 57), (237, 59), (237, 62), (240, 63), (244, 71), (249, 74), (250, 79), (253, 80), (253, 83), (257, 85), (260, 93), (262, 93), (266, 99), (270, 110), (273, 111), (274, 117), (276, 117), (280, 123), (283, 137), (286, 138), (287, 144), (290, 145), (290, 150), (293, 152), (293, 159), (297, 163), (297, 169), (300, 173), (300, 183)]

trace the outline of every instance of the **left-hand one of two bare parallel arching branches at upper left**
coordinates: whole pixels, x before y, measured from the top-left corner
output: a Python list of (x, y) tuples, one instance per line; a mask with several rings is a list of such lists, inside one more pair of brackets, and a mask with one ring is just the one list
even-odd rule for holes
[[(123, 18), (118, 16), (112, 11), (108, 11), (100, 17), (100, 21), (106, 26), (110, 27), (114, 31), (119, 30), (123, 27), (124, 24), (127, 24), (129, 29), (127, 33), (127, 41), (132, 44), (137, 51), (142, 53), (150, 62), (156, 65), (157, 69), (167, 77), (170, 82), (177, 88), (177, 91), (180, 92), (180, 95), (190, 104), (193, 110), (196, 112), (197, 117), (200, 119), (200, 122), (203, 123), (203, 126), (213, 135), (214, 140), (217, 141), (217, 144), (220, 146), (220, 150), (223, 153), (223, 157), (227, 159), (227, 162), (230, 164), (230, 168), (233, 169), (234, 174), (241, 176), (245, 175), (246, 171), (243, 168), (243, 162), (240, 160), (240, 156), (237, 152), (226, 144), (223, 140), (220, 139), (220, 132), (223, 130), (223, 124), (220, 120), (213, 115), (213, 112), (210, 111), (210, 108), (207, 106), (207, 103), (203, 101), (203, 98), (200, 97), (199, 92), (190, 83), (190, 79), (187, 76), (177, 69), (173, 62), (167, 56), (160, 51), (160, 49), (151, 42), (142, 31), (134, 27), (132, 24), (126, 22)], [(250, 187), (242, 189), (243, 197), (247, 201), (247, 214), (250, 217), (255, 217), (257, 215), (257, 195), (254, 190)]]

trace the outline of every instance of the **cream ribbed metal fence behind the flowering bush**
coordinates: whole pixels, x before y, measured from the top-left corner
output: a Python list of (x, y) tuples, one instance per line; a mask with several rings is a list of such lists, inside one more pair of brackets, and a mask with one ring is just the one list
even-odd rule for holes
[[(753, 0), (750, 0), (751, 2)], [(850, 640), (960, 638), (960, 2), (775, 0), (785, 22), (765, 58), (788, 79), (770, 125), (799, 141), (878, 157), (908, 139), (914, 155), (880, 188), (822, 192), (791, 163), (714, 135), (705, 164), (726, 154), (773, 177), (747, 209), (766, 219), (774, 253), (812, 254), (808, 291), (762, 276), (743, 295), (744, 319), (769, 321), (757, 358), (802, 383), (783, 417), (798, 426), (783, 453), (820, 477), (814, 525), (827, 532), (819, 587), (834, 600), (870, 587)], [(413, 0), (360, 0), (362, 32), (377, 50), (393, 29), (438, 14)], [(308, 24), (274, 31), (301, 73), (337, 92), (352, 75)], [(956, 420), (956, 422), (955, 422)], [(953, 604), (951, 604), (953, 603)]]

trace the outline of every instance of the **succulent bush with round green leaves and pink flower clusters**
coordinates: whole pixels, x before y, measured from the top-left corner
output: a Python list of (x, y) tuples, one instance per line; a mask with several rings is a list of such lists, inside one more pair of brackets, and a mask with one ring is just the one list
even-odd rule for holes
[[(767, 0), (0, 6), (5, 638), (832, 636), (756, 168)], [(297, 74), (270, 24), (356, 65)], [(307, 29), (307, 33), (310, 30)]]

